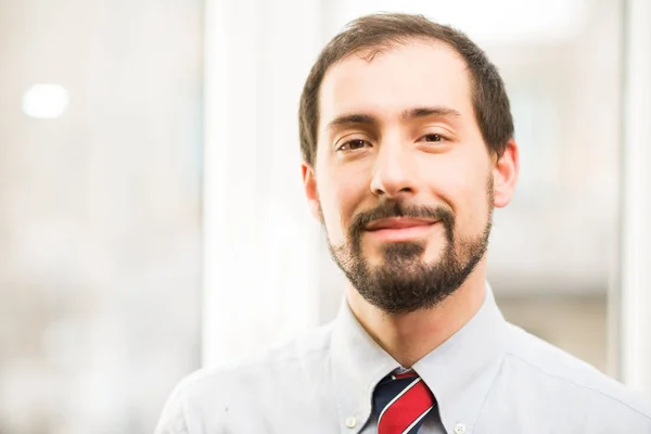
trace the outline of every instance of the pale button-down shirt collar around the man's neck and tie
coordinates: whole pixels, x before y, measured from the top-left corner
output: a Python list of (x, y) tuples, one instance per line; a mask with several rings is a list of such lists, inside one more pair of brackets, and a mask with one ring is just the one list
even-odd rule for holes
[[(446, 432), (472, 433), (499, 369), (508, 323), (486, 284), (484, 303), (450, 339), (413, 365), (434, 394)], [(341, 432), (357, 433), (371, 414), (375, 385), (400, 365), (366, 332), (344, 297), (332, 335), (334, 387)], [(353, 418), (354, 430), (347, 427)]]

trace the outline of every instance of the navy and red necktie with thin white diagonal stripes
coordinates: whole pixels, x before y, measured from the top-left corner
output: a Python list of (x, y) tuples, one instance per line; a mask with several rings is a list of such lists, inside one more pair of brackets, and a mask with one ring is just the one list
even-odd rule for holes
[(434, 408), (434, 397), (413, 371), (386, 376), (375, 386), (378, 434), (416, 434)]

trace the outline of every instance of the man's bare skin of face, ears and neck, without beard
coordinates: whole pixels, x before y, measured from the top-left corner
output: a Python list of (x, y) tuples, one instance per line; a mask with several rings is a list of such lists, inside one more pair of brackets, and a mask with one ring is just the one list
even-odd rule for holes
[[(310, 209), (324, 225), (330, 243), (346, 242), (358, 213), (393, 200), (445, 206), (455, 215), (457, 235), (477, 237), (486, 228), (490, 206), (511, 201), (519, 152), (513, 140), (499, 159), (488, 152), (464, 61), (444, 43), (421, 40), (370, 61), (360, 54), (345, 58), (326, 74), (316, 162), (302, 167)], [(346, 116), (347, 122), (341, 122)], [(493, 183), (492, 204), (487, 180)], [(384, 221), (392, 229), (362, 235), (361, 252), (370, 266), (384, 264), (387, 243), (406, 241), (424, 246), (421, 260), (441, 259), (447, 243), (441, 222), (398, 220)], [(403, 224), (411, 228), (400, 229)], [(346, 297), (367, 332), (409, 368), (475, 315), (485, 281), (486, 255), (464, 283), (434, 307), (390, 314), (368, 303), (350, 283)]]

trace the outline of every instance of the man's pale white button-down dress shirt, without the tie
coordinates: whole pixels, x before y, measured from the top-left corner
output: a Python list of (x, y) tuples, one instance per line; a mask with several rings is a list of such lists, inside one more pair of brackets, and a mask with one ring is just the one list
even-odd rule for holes
[[(401, 367), (345, 299), (334, 321), (184, 379), (156, 434), (375, 433), (375, 385)], [(412, 369), (436, 399), (420, 434), (651, 433), (651, 406), (507, 322), (490, 286), (477, 314)]]

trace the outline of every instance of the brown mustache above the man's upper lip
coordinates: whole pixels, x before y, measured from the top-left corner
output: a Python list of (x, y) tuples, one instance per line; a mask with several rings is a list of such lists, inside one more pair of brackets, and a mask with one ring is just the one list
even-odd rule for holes
[(393, 201), (384, 202), (372, 209), (358, 213), (350, 225), (350, 233), (353, 235), (359, 234), (370, 222), (393, 217), (441, 220), (448, 232), (451, 232), (455, 227), (455, 215), (445, 206), (407, 205), (403, 202)]

